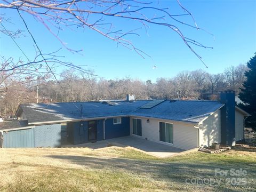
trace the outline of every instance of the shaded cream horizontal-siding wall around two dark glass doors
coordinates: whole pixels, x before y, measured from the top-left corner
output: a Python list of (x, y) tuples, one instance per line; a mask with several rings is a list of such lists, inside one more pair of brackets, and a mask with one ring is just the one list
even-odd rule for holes
[[(147, 138), (150, 141), (164, 143), (166, 145), (171, 145), (170, 143), (159, 141), (159, 122), (173, 123), (173, 147), (181, 149), (193, 149), (198, 146), (198, 129), (194, 127), (193, 124), (188, 123), (179, 123), (172, 122), (164, 119), (151, 119), (151, 118), (140, 118), (140, 117), (131, 117), (130, 118), (130, 134), (132, 134), (132, 118), (141, 119), (142, 126), (142, 137), (134, 135), (135, 137), (145, 139)], [(149, 123), (147, 123), (149, 119)]]

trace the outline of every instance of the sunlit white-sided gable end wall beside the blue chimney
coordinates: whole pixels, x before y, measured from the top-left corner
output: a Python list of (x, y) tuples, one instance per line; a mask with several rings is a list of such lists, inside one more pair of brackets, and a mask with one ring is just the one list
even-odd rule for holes
[(199, 125), (200, 146), (211, 146), (214, 142), (221, 142), (220, 119), (220, 110), (218, 110)]

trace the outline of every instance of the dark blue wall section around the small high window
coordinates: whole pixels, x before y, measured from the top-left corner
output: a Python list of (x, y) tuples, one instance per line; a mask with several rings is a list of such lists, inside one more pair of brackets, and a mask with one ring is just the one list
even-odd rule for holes
[(121, 124), (113, 124), (113, 118), (105, 121), (105, 139), (124, 137), (130, 135), (130, 118), (122, 117)]

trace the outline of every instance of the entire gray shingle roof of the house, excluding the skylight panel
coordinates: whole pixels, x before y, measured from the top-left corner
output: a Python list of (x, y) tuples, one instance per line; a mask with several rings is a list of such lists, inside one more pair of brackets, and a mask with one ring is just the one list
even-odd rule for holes
[(150, 109), (140, 108), (148, 102), (150, 100), (33, 103), (22, 104), (20, 108), (29, 123), (123, 115), (198, 123), (223, 106), (219, 101), (166, 100)]

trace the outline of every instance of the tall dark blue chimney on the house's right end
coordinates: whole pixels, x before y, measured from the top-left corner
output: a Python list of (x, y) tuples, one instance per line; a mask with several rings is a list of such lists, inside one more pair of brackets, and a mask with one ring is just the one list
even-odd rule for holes
[(236, 144), (235, 92), (221, 92), (220, 102), (225, 104), (225, 106), (221, 108), (221, 143), (228, 146), (234, 146)]

